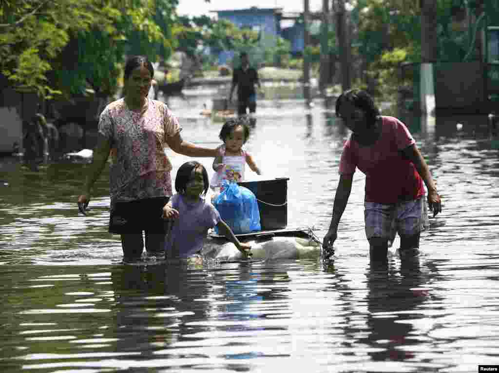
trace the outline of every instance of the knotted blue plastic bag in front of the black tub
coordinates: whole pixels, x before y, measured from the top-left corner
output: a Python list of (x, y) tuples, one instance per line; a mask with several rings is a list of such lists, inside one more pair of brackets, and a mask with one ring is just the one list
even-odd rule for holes
[[(227, 180), (222, 181), (222, 189), (213, 205), (232, 231), (244, 234), (261, 230), (260, 211), (253, 192)], [(218, 229), (215, 231), (218, 233)]]

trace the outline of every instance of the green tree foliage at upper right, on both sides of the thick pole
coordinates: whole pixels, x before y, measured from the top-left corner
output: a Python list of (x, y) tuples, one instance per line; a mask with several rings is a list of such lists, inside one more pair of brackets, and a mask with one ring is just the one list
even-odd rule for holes
[[(465, 19), (466, 1), (472, 6), (471, 12), (478, 14), (480, 6), (473, 1), (437, 0), (440, 61), (463, 61), (467, 54), (470, 37)], [(420, 1), (358, 0), (351, 17), (357, 27), (357, 39), (352, 40), (356, 45), (354, 50), (364, 62), (367, 80), (377, 80), (381, 86), (396, 86), (400, 63), (421, 61)]]

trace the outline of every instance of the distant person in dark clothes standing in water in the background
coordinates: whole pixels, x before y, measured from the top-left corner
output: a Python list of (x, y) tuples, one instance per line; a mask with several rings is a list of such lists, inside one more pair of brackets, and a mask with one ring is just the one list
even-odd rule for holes
[(241, 53), (241, 67), (234, 69), (232, 75), (231, 91), (229, 93), (229, 101), (232, 101), (232, 95), (236, 86), (238, 87), (238, 115), (256, 112), (256, 89), (261, 88), (258, 72), (253, 67), (250, 67), (248, 53)]

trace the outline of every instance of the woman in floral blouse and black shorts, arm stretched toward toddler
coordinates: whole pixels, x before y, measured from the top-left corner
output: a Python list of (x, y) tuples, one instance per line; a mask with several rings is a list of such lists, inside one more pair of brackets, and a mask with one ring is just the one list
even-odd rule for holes
[(83, 193), (80, 211), (90, 201), (91, 189), (102, 172), (111, 148), (111, 214), (109, 232), (121, 235), (123, 261), (136, 261), (145, 246), (149, 255), (164, 255), (164, 207), (172, 196), (172, 165), (165, 147), (192, 157), (215, 157), (217, 149), (198, 147), (182, 139), (182, 127), (166, 104), (147, 98), (154, 68), (144, 56), (125, 65), (125, 96), (111, 102), (99, 119), (97, 146)]

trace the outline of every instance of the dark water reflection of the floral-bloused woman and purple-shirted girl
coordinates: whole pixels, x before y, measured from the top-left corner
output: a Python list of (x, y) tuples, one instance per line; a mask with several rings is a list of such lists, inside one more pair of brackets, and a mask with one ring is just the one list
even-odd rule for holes
[[(209, 278), (181, 265), (116, 266), (111, 272), (116, 302), (113, 338), (117, 351), (141, 351), (155, 359), (181, 336), (194, 333), (187, 324), (207, 317)], [(173, 358), (174, 352), (168, 357)]]

